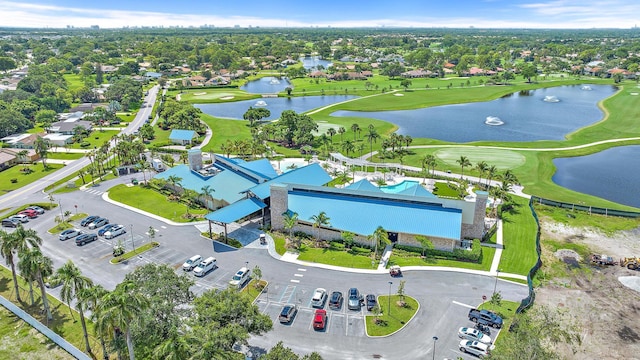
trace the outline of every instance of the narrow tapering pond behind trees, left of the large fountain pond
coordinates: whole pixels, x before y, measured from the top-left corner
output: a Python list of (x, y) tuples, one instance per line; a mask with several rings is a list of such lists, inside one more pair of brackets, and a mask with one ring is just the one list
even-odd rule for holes
[(235, 101), (229, 103), (218, 104), (194, 104), (195, 107), (202, 110), (205, 114), (242, 120), (242, 116), (249, 107), (264, 107), (271, 112), (271, 116), (264, 120), (275, 120), (280, 117), (284, 110), (293, 110), (296, 113), (302, 113), (323, 106), (335, 104), (356, 98), (355, 95), (324, 95), (324, 96), (301, 96), (301, 97), (279, 97), (264, 98), (244, 101)]

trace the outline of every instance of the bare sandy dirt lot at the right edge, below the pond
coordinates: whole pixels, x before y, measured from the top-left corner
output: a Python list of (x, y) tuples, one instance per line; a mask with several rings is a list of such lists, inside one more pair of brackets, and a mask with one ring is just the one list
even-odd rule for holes
[[(541, 226), (543, 242), (553, 239), (579, 243), (594, 253), (616, 259), (640, 254), (637, 229), (606, 236), (544, 220)], [(563, 346), (557, 352), (567, 359), (640, 359), (640, 288), (634, 290), (635, 284), (640, 285), (640, 271), (592, 266), (568, 249), (543, 257), (546, 261), (564, 262), (567, 275), (537, 288), (536, 304), (568, 312), (577, 322), (582, 338), (576, 352)]]

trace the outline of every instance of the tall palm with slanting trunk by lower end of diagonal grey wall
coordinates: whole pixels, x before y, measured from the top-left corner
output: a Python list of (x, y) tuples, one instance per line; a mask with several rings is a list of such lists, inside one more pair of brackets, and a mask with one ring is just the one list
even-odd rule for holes
[(73, 319), (73, 312), (71, 311), (71, 300), (74, 298), (77, 300), (76, 309), (80, 313), (80, 323), (82, 324), (82, 332), (84, 334), (84, 345), (87, 353), (91, 354), (91, 346), (89, 346), (89, 333), (87, 332), (87, 323), (84, 318), (85, 301), (78, 295), (83, 289), (87, 289), (93, 285), (93, 282), (88, 277), (82, 275), (82, 271), (69, 260), (61, 268), (56, 270), (55, 279), (62, 283), (62, 289), (60, 290), (60, 297), (62, 301), (69, 306), (69, 313)]

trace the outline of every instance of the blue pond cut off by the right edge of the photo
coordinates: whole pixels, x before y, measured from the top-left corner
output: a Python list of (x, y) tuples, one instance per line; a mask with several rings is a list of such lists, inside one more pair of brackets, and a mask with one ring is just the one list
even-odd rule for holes
[(553, 182), (568, 189), (640, 208), (640, 145), (553, 160)]

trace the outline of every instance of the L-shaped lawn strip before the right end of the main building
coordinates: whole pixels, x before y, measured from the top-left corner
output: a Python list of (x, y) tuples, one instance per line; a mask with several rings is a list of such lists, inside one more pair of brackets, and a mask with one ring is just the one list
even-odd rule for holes
[[(389, 258), (389, 265), (400, 266), (445, 266), (461, 269), (483, 270), (491, 269), (491, 262), (496, 249), (492, 247), (482, 247), (482, 262), (472, 263), (466, 261), (456, 261), (449, 259), (423, 258), (418, 253), (393, 249)], [(504, 254), (504, 253), (503, 253)]]

